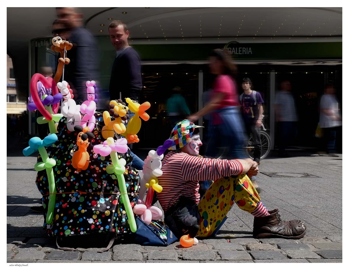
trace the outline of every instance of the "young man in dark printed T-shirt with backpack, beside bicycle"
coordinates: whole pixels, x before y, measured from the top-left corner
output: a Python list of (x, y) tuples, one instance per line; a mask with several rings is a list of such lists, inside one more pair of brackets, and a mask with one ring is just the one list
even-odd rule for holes
[(262, 151), (261, 125), (263, 118), (263, 98), (261, 94), (251, 89), (252, 82), (249, 78), (242, 81), (244, 93), (240, 95), (243, 119), (247, 134), (252, 134), (253, 138), (253, 160), (259, 165)]

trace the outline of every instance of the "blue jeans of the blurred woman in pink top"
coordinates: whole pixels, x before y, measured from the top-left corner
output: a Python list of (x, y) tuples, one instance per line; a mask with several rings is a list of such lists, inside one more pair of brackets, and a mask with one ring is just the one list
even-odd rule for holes
[(224, 159), (247, 158), (243, 149), (245, 144), (245, 127), (239, 110), (235, 106), (224, 107), (219, 113), (222, 124), (213, 125), (210, 121), (210, 141), (206, 155), (217, 158), (218, 147), (224, 147)]

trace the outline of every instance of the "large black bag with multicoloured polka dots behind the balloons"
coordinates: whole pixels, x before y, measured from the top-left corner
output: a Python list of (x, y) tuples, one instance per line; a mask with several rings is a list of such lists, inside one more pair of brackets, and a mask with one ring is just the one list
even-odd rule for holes
[[(74, 241), (77, 235), (131, 232), (124, 205), (120, 203), (121, 196), (116, 175), (107, 174), (105, 171), (105, 167), (111, 163), (111, 158), (94, 155), (92, 150), (94, 145), (105, 141), (101, 134), (104, 126), (102, 113), (96, 112), (95, 117), (96, 126), (92, 130), (95, 137), (89, 140), (87, 151), (90, 154), (90, 162), (86, 170), (78, 173), (72, 166), (72, 156), (78, 148), (77, 132), (70, 132), (67, 129), (65, 117), (62, 117), (58, 124), (58, 141), (52, 147), (46, 148), (49, 157), (57, 162), (53, 172), (58, 194), (50, 224), (46, 223), (49, 204), (46, 170), (38, 172), (36, 185), (43, 195), (43, 228), (49, 236), (68, 236)], [(118, 139), (116, 135), (114, 138)], [(124, 177), (128, 198), (133, 207), (138, 201), (140, 177), (138, 171), (130, 165), (132, 157), (129, 149), (126, 153), (119, 154), (119, 158), (126, 160)], [(40, 156), (38, 159), (41, 161)]]

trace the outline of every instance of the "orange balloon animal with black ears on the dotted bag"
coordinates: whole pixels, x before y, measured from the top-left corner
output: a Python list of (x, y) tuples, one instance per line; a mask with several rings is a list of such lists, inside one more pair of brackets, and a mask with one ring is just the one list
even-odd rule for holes
[(72, 165), (77, 172), (81, 172), (88, 168), (90, 162), (90, 155), (87, 152), (87, 146), (90, 144), (88, 140), (93, 139), (95, 135), (88, 131), (88, 127), (75, 126), (74, 130), (79, 132), (76, 138), (76, 144), (79, 149), (74, 152)]

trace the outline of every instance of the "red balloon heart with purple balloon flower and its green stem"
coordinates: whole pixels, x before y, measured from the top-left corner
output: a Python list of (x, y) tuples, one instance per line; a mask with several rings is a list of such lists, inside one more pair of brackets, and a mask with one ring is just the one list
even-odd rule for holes
[[(42, 100), (40, 100), (37, 89), (38, 80), (42, 82), (45, 88), (52, 89), (53, 96), (43, 95)], [(63, 114), (57, 113), (62, 95), (58, 93), (58, 88), (55, 81), (52, 78), (46, 79), (42, 74), (35, 73), (30, 80), (30, 94), (34, 102), (28, 104), (28, 110), (34, 111), (38, 109), (43, 115), (43, 117), (38, 117), (36, 120), (38, 124), (49, 123), (50, 133), (56, 133), (57, 130), (55, 121), (58, 122), (59, 119), (62, 118)]]

